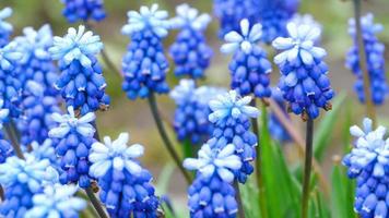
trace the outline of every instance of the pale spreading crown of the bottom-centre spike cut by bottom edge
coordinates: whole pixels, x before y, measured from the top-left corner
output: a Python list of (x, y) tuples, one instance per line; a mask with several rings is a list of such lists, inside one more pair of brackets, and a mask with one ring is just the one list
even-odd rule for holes
[(226, 182), (234, 181), (234, 170), (241, 167), (240, 158), (235, 153), (235, 146), (228, 144), (222, 149), (212, 149), (204, 144), (199, 150), (198, 159), (187, 158), (184, 167), (188, 170), (198, 170), (204, 178), (211, 178), (215, 172)]

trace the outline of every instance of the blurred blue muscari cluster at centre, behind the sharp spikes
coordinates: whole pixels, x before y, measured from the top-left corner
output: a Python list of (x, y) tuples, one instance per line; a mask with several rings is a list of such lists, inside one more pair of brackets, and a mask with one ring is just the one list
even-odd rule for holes
[(179, 141), (190, 140), (192, 144), (202, 144), (212, 134), (213, 125), (208, 120), (211, 109), (208, 104), (222, 92), (208, 86), (197, 88), (194, 81), (180, 80), (179, 85), (170, 92), (177, 106), (174, 129)]

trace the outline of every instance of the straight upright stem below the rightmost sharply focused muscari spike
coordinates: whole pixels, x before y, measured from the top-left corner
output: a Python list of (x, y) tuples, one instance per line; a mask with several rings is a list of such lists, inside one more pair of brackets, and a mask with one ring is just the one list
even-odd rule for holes
[(314, 120), (307, 120), (307, 133), (306, 133), (306, 146), (305, 146), (305, 164), (304, 164), (304, 181), (303, 181), (303, 201), (302, 201), (302, 217), (308, 217), (308, 203), (309, 203), (309, 182), (310, 172), (313, 166), (313, 144), (314, 144)]

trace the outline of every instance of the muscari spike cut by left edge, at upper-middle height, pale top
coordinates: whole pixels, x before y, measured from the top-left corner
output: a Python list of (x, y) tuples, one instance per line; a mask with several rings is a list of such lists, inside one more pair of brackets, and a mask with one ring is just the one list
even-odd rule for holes
[(17, 117), (21, 111), (22, 84), (17, 80), (17, 62), (23, 53), (16, 51), (17, 44), (12, 41), (0, 48), (0, 99), (4, 101), (4, 108), (10, 110), (11, 117)]

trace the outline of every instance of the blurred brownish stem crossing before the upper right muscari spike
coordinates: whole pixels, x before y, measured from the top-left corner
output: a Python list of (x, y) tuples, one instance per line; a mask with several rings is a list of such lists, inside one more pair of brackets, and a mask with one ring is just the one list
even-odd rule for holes
[(363, 73), (363, 81), (364, 81), (366, 114), (373, 120), (374, 125), (376, 125), (376, 121), (377, 121), (376, 109), (372, 100), (370, 77), (367, 69), (367, 55), (366, 55), (365, 43), (363, 39), (363, 33), (361, 26), (361, 0), (354, 0), (354, 20), (355, 20), (355, 29), (356, 29), (356, 41), (358, 46), (359, 69)]

